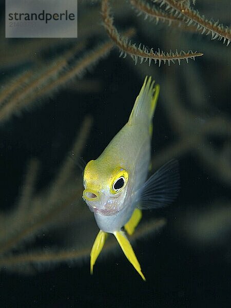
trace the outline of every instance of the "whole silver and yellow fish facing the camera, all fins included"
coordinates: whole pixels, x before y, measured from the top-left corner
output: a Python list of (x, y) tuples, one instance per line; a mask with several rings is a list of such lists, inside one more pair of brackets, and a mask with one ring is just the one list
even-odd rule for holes
[(101, 155), (90, 160), (83, 172), (83, 200), (100, 229), (90, 253), (90, 273), (108, 234), (113, 234), (128, 261), (143, 280), (140, 263), (126, 236), (133, 234), (142, 209), (166, 206), (179, 191), (179, 166), (171, 160), (148, 180), (151, 158), (152, 117), (160, 86), (146, 76), (128, 122)]

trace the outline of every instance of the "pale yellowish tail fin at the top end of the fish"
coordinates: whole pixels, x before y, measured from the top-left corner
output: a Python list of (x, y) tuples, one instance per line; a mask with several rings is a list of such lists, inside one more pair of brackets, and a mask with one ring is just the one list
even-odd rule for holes
[(154, 83), (155, 81), (151, 81), (151, 77), (145, 77), (144, 84), (131, 111), (128, 124), (151, 122), (160, 92), (160, 86), (156, 85), (154, 87)]

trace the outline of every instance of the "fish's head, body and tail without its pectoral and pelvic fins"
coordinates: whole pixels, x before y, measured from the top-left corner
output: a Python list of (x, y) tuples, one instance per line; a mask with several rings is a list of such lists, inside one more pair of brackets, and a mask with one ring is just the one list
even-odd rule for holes
[[(83, 199), (104, 232), (120, 230), (130, 219), (139, 201), (150, 164), (150, 126), (155, 109), (155, 105), (151, 106), (153, 93), (153, 82), (150, 78), (148, 81), (146, 79), (129, 121), (100, 157), (90, 161), (85, 168)], [(125, 170), (128, 175), (125, 187), (116, 194), (111, 193), (110, 187), (116, 173), (114, 170)]]

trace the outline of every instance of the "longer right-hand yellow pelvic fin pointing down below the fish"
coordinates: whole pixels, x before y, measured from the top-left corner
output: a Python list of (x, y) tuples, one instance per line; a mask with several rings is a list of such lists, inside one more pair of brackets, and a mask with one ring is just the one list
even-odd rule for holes
[(131, 264), (134, 266), (134, 268), (136, 268), (137, 272), (140, 274), (140, 276), (143, 278), (143, 280), (146, 281), (143, 273), (141, 272), (140, 263), (138, 262), (137, 257), (134, 254), (134, 251), (131, 247), (131, 244), (129, 243), (128, 239), (126, 238), (124, 232), (123, 231), (115, 231), (114, 236), (117, 239), (118, 243), (120, 244), (122, 251), (124, 252), (128, 261), (131, 262)]

